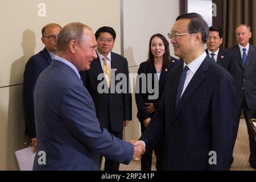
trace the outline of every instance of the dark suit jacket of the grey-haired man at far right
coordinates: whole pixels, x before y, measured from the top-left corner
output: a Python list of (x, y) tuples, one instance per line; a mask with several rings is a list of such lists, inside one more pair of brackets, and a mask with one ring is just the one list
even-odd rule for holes
[(241, 107), (243, 95), (249, 109), (256, 109), (256, 47), (250, 45), (245, 67), (239, 46), (226, 49), (233, 55), (236, 63), (237, 104)]

